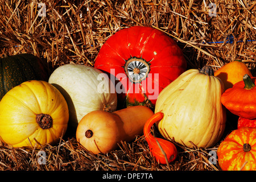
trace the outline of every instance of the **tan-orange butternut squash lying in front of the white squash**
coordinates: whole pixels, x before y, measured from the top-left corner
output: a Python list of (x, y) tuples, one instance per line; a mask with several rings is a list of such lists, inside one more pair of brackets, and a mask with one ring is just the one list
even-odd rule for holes
[(115, 150), (118, 143), (130, 142), (143, 134), (153, 111), (146, 106), (131, 106), (109, 113), (96, 110), (86, 114), (77, 126), (76, 139), (93, 154)]

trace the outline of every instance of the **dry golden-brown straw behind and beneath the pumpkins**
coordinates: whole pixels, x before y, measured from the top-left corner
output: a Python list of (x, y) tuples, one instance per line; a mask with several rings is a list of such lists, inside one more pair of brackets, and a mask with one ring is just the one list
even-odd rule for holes
[[(139, 25), (158, 28), (175, 39), (183, 49), (188, 69), (212, 65), (216, 70), (240, 59), (255, 75), (256, 42), (251, 40), (256, 40), (256, 1), (42, 2), (46, 16), (39, 16), (43, 11), (35, 0), (0, 1), (0, 57), (32, 53), (46, 61), (49, 73), (68, 63), (93, 66), (110, 36)], [(211, 2), (216, 5), (213, 16)], [(233, 35), (233, 43), (225, 43), (229, 35)], [(228, 122), (224, 137), (236, 127), (236, 121)], [(209, 151), (216, 151), (218, 144), (210, 149), (176, 146), (176, 162), (161, 165), (152, 159), (140, 136), (106, 155), (89, 154), (73, 136), (65, 136), (56, 146), (43, 146), (47, 163), (40, 165), (35, 148), (12, 148), (0, 143), (0, 170), (220, 170), (218, 164), (208, 161)]]

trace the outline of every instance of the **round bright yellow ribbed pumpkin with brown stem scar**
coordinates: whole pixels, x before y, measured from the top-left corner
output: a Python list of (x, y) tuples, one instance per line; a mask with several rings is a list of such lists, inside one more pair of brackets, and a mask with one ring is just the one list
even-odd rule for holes
[(65, 134), (68, 118), (59, 90), (46, 81), (26, 81), (0, 102), (0, 137), (14, 147), (53, 144)]

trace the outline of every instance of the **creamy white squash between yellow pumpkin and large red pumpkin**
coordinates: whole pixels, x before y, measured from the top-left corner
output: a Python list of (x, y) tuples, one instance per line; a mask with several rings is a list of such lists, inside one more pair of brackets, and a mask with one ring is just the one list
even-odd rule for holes
[(71, 126), (76, 127), (82, 117), (91, 111), (115, 111), (117, 108), (117, 93), (113, 83), (96, 68), (65, 64), (53, 71), (49, 83), (65, 97)]

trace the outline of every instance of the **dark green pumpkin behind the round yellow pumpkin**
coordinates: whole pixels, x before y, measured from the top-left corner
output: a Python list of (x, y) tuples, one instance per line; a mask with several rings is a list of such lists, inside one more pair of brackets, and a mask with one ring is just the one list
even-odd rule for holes
[(0, 70), (0, 100), (10, 89), (24, 81), (48, 81), (42, 60), (28, 53), (0, 59)]

